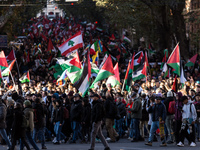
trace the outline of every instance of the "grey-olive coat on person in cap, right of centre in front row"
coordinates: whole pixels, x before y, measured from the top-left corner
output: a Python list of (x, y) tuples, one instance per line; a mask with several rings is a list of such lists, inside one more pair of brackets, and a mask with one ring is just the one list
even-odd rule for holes
[(142, 119), (142, 103), (140, 98), (135, 98), (132, 108), (128, 110), (131, 111), (131, 118)]

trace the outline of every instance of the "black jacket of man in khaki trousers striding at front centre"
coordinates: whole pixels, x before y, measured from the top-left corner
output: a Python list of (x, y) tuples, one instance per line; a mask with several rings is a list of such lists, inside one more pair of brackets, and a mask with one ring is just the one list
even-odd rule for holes
[(103, 112), (103, 103), (101, 100), (96, 100), (92, 102), (92, 122), (98, 122), (101, 121), (104, 117), (104, 112)]

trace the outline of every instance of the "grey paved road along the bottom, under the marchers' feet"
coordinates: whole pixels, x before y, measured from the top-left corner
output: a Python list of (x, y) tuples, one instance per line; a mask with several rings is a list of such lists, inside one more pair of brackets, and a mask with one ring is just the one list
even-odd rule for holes
[[(154, 142), (152, 147), (144, 145), (144, 142), (137, 142), (137, 143), (131, 143), (127, 139), (121, 139), (117, 143), (109, 143), (109, 146), (111, 150), (199, 150), (200, 142), (197, 143), (197, 147), (190, 147), (188, 146), (187, 142), (185, 142), (185, 147), (177, 147), (174, 144), (170, 144), (167, 147), (160, 147), (160, 142)], [(37, 143), (38, 146), (40, 146), (40, 143)], [(90, 147), (90, 144), (60, 144), (60, 145), (54, 145), (51, 142), (46, 143), (46, 146), (48, 150), (88, 150)], [(6, 146), (0, 145), (0, 150), (6, 150)], [(19, 150), (19, 147), (17, 146), (17, 149)], [(104, 150), (104, 147), (102, 143), (96, 143), (95, 150)]]

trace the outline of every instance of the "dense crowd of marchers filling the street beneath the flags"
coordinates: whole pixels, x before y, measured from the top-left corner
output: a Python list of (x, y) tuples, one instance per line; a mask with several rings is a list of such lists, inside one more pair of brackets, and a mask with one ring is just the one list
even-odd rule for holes
[[(1, 143), (6, 143), (10, 150), (15, 149), (18, 141), (21, 150), (24, 147), (30, 150), (30, 144), (39, 150), (38, 142), (42, 149), (47, 149), (47, 141), (54, 144), (90, 143), (90, 150), (94, 150), (95, 142), (101, 141), (105, 150), (109, 150), (109, 142), (122, 138), (138, 142), (145, 141), (147, 137), (145, 144), (152, 146), (152, 142), (157, 141), (159, 135), (161, 137), (162, 130), (164, 136), (160, 138), (160, 146), (173, 143), (184, 146), (185, 138), (190, 146), (196, 146), (196, 142), (200, 141), (198, 66), (185, 68), (187, 81), (182, 86), (180, 78), (177, 78), (174, 91), (174, 74), (164, 78), (155, 62), (148, 77), (132, 82), (130, 91), (126, 91), (122, 83), (133, 53), (128, 43), (115, 37), (109, 38), (108, 33), (97, 31), (95, 24), (84, 25), (73, 17), (52, 21), (40, 17), (32, 21), (32, 25), (24, 27), (23, 34), (27, 34), (27, 39), (21, 41), (23, 45), (15, 50), (19, 72), (29, 71), (30, 82), (20, 84), (18, 71), (14, 68), (15, 86), (11, 81), (6, 82), (0, 90)], [(40, 24), (44, 27), (38, 28)], [(106, 84), (106, 80), (100, 81), (85, 97), (81, 97), (70, 80), (64, 86), (56, 85), (55, 69), (49, 68), (55, 64), (53, 58), (58, 57), (59, 51), (47, 51), (47, 37), (58, 47), (63, 39), (68, 39), (77, 30), (83, 31), (85, 45), (91, 39), (93, 42), (101, 39), (105, 47), (109, 47), (109, 40), (118, 44), (107, 50), (114, 57), (120, 56), (121, 84), (112, 87)], [(78, 52), (81, 56), (83, 49)], [(100, 57), (103, 56), (103, 52), (100, 53)], [(106, 138), (102, 133), (104, 129)]]

